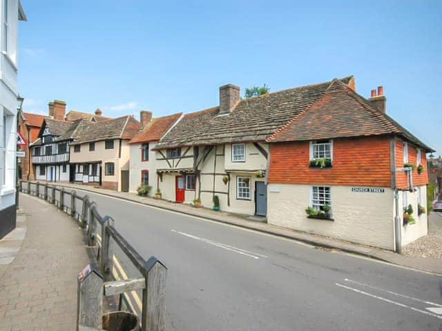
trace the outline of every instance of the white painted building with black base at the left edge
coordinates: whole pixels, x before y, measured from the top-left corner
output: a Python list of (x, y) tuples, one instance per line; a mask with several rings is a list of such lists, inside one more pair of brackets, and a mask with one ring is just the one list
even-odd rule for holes
[(17, 35), (26, 21), (19, 0), (2, 0), (0, 9), (0, 238), (15, 228), (17, 149)]

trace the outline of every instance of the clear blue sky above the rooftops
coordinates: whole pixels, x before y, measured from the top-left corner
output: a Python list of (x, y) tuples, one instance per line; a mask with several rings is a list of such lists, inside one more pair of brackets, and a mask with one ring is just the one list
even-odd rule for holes
[[(354, 1), (356, 2), (356, 1)], [(365, 97), (442, 151), (442, 1), (30, 1), (19, 30), (25, 111), (154, 116), (353, 74)]]

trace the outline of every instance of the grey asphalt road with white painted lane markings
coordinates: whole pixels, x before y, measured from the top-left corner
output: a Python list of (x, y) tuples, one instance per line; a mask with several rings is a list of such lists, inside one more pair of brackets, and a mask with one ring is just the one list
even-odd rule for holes
[(166, 330), (442, 330), (441, 277), (87, 194), (168, 267)]

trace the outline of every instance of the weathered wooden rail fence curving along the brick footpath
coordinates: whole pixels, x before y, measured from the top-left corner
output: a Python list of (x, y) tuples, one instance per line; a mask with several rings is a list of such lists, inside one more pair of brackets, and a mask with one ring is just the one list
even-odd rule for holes
[[(119, 308), (121, 308), (122, 299), (127, 294), (126, 292), (142, 290), (142, 299), (140, 300), (141, 316), (139, 316), (141, 330), (164, 330), (164, 292), (167, 268), (163, 263), (155, 257), (145, 261), (115, 228), (114, 220), (107, 215), (102, 217), (99, 214), (97, 203), (91, 201), (87, 194), (79, 197), (75, 190), (69, 191), (63, 187), (57, 188), (55, 185), (30, 181), (21, 181), (19, 189), (21, 192), (39, 197), (56, 205), (59, 210), (73, 217), (81, 228), (86, 230), (88, 246), (97, 248), (97, 264), (105, 281), (103, 284), (104, 296), (119, 294)], [(78, 205), (81, 205), (81, 208), (78, 208)], [(97, 225), (101, 228), (101, 233), (98, 232)], [(115, 279), (113, 274), (115, 256), (113, 255), (112, 243), (116, 243), (119, 246), (124, 257), (140, 272), (141, 277), (135, 279)], [(96, 300), (97, 298), (95, 298)], [(85, 309), (89, 310), (90, 308), (86, 307)], [(88, 315), (86, 319), (90, 319), (90, 310), (86, 311), (86, 314)], [(100, 315), (93, 317), (93, 319), (101, 325), (101, 311), (94, 314)], [(81, 318), (81, 312), (79, 312), (77, 328), (79, 328), (79, 325), (84, 325), (84, 321)], [(101, 330), (99, 325), (86, 326)]]

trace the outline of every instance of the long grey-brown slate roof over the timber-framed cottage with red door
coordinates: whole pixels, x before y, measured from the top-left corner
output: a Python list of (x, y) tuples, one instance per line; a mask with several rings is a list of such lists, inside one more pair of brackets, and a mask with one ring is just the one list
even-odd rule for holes
[[(348, 84), (353, 77), (341, 79)], [(331, 81), (242, 99), (229, 114), (219, 107), (184, 115), (157, 148), (264, 141), (305, 107), (320, 99)]]

